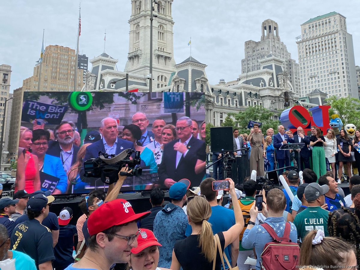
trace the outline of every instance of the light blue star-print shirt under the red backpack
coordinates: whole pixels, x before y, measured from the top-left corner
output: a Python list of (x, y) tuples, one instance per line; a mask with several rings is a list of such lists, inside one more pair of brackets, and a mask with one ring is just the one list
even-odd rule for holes
[[(275, 233), (282, 237), (285, 230), (285, 220), (284, 217), (268, 217), (265, 220), (265, 223), (269, 224), (275, 231)], [(290, 222), (291, 223), (291, 222)], [(293, 223), (290, 227), (290, 239), (291, 242), (297, 243), (297, 230)], [(241, 244), (243, 248), (253, 248), (255, 247), (256, 251), (256, 270), (260, 270), (260, 256), (266, 243), (269, 243), (273, 240), (270, 234), (265, 230), (261, 225), (255, 225), (251, 230), (246, 229), (244, 231), (243, 239)]]

